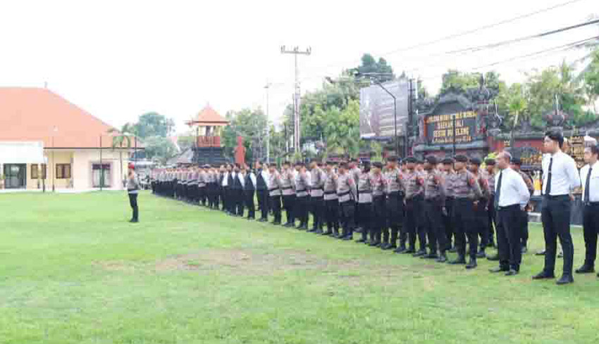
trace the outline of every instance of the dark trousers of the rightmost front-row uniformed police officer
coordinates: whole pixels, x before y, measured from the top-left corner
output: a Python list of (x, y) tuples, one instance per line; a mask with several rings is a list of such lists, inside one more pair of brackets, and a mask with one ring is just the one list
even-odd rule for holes
[(478, 229), (474, 222), (474, 205), (469, 198), (455, 198), (452, 207), (452, 224), (455, 230), (455, 246), (460, 257), (466, 255), (466, 237), (469, 243), (469, 255), (476, 260), (478, 249)]

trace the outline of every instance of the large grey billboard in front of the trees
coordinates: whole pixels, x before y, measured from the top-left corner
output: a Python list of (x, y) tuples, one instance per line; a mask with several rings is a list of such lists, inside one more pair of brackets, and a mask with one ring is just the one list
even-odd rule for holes
[[(383, 87), (396, 98), (397, 136), (403, 136), (408, 120), (409, 84), (407, 79), (385, 82)], [(360, 89), (360, 137), (390, 139), (395, 136), (393, 97), (378, 84)]]

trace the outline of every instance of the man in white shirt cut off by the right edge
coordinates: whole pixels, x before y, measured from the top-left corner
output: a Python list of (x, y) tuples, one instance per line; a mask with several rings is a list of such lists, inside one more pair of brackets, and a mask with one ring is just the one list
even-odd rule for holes
[[(588, 274), (595, 271), (597, 257), (597, 235), (599, 234), (599, 164), (597, 163), (599, 148), (587, 147), (584, 160), (587, 163), (580, 170), (582, 181), (582, 226), (584, 234), (584, 264), (576, 269), (576, 274)], [(597, 275), (599, 276), (599, 274)]]

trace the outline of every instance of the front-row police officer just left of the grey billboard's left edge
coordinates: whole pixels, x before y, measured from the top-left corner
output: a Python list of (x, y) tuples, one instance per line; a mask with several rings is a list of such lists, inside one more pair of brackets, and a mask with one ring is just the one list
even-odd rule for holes
[(357, 199), (357, 189), (354, 177), (347, 172), (347, 163), (339, 165), (337, 175), (337, 197), (342, 234), (340, 239), (352, 240), (354, 231), (354, 210)]

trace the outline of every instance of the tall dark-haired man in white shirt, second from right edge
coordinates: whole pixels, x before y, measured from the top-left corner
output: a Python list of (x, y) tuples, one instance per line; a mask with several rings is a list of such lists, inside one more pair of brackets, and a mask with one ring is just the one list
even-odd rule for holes
[(555, 251), (557, 238), (560, 238), (564, 251), (564, 268), (557, 284), (574, 282), (572, 261), (574, 244), (570, 234), (570, 193), (580, 186), (580, 177), (576, 163), (569, 155), (562, 152), (564, 136), (561, 132), (550, 131), (545, 134), (543, 146), (548, 157), (543, 159), (543, 203), (541, 219), (545, 236), (545, 267), (533, 276), (533, 279), (555, 278)]

